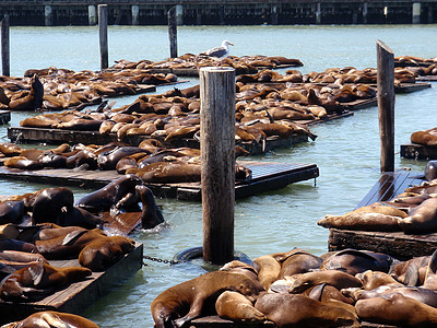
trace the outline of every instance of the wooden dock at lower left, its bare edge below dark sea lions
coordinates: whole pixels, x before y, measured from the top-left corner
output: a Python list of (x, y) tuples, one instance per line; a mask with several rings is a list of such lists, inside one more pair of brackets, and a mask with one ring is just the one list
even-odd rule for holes
[[(98, 298), (106, 295), (120, 280), (129, 279), (141, 269), (143, 245), (137, 243), (135, 248), (104, 272), (93, 272), (84, 281), (70, 284), (47, 297), (32, 303), (11, 303), (0, 300), (0, 325), (22, 320), (39, 311), (57, 311), (81, 314)], [(78, 259), (50, 261), (55, 267), (80, 266)]]

